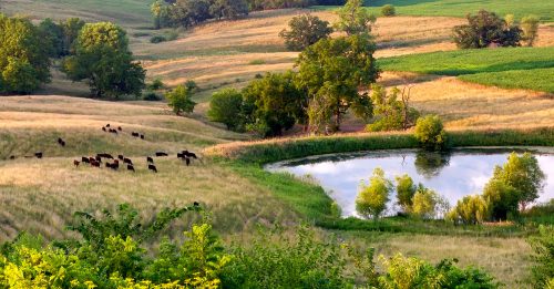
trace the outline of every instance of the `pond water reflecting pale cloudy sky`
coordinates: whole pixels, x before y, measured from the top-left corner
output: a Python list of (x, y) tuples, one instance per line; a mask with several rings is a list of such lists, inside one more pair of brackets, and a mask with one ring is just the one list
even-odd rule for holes
[[(342, 208), (345, 217), (356, 216), (356, 196), (361, 182), (369, 182), (373, 169), (381, 167), (386, 176), (408, 174), (455, 205), (466, 195), (481, 194), (491, 178), (494, 166), (506, 162), (511, 152), (531, 152), (546, 174), (540, 199), (554, 198), (554, 152), (552, 148), (466, 148), (448, 154), (416, 149), (377, 151), (355, 154), (336, 154), (293, 159), (268, 165), (271, 172), (289, 172), (315, 178)], [(391, 196), (388, 214), (398, 210), (396, 195)]]

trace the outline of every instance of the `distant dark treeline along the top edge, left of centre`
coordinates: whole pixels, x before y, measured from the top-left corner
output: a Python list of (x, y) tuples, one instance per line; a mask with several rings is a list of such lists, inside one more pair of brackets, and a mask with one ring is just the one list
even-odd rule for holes
[(342, 6), (346, 0), (156, 0), (151, 7), (156, 29), (194, 27), (211, 19), (239, 19), (250, 11), (310, 6)]

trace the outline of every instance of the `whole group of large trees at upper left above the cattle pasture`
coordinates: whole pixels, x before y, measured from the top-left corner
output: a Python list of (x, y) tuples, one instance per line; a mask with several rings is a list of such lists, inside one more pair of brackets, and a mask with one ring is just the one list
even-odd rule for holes
[(0, 14), (0, 93), (32, 93), (50, 82), (53, 62), (69, 79), (86, 80), (96, 97), (138, 95), (145, 86), (145, 71), (116, 24), (71, 18), (34, 25), (25, 18)]

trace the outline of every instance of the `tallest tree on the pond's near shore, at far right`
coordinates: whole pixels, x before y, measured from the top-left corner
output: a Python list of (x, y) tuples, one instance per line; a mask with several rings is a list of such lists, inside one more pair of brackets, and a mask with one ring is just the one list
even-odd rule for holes
[(507, 163), (503, 167), (496, 166), (493, 175), (493, 179), (503, 182), (516, 192), (522, 208), (538, 198), (545, 178), (536, 157), (530, 153), (522, 156), (510, 154)]

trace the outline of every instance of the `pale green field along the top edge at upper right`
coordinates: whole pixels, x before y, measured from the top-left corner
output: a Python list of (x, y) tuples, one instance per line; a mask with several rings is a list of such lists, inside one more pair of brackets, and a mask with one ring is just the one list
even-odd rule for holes
[[(543, 0), (366, 0), (366, 6), (375, 14), (380, 13), (380, 7), (393, 4), (397, 13), (402, 16), (443, 16), (443, 17), (465, 17), (468, 13), (475, 13), (480, 9), (494, 11), (500, 16), (514, 14), (521, 19), (527, 14), (540, 17), (541, 21), (554, 21), (554, 1)], [(329, 9), (328, 7), (319, 7)]]

